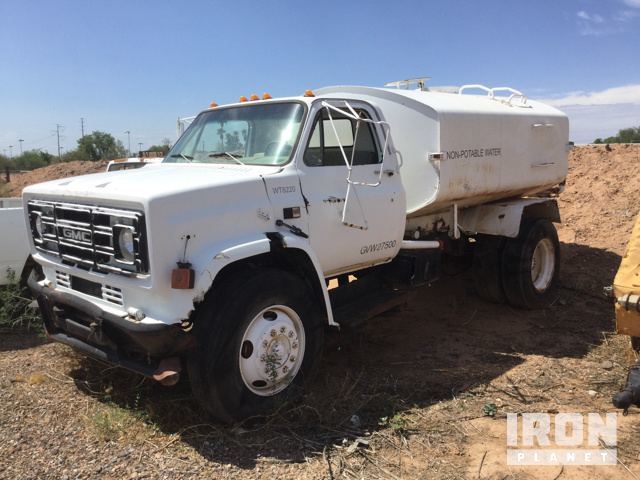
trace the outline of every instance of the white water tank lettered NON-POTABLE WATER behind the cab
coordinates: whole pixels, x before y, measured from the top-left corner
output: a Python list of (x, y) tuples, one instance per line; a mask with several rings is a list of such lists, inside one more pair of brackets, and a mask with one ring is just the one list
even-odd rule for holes
[[(498, 95), (505, 90), (508, 96)], [(513, 92), (354, 86), (316, 91), (326, 98), (368, 102), (389, 122), (411, 217), (453, 203), (465, 207), (533, 194), (565, 180), (567, 116)]]

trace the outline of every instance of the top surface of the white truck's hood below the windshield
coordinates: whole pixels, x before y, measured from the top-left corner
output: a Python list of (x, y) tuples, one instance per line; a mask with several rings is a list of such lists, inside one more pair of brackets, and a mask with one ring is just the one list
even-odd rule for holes
[(93, 198), (123, 202), (147, 202), (155, 198), (254, 182), (279, 171), (274, 167), (243, 165), (151, 164), (135, 170), (95, 173), (31, 185), (28, 196)]

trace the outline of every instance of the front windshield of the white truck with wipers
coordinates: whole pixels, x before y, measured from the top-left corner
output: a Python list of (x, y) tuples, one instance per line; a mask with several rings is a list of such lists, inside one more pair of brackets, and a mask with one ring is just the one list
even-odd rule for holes
[(164, 163), (283, 165), (293, 154), (304, 111), (300, 103), (282, 102), (201, 113)]

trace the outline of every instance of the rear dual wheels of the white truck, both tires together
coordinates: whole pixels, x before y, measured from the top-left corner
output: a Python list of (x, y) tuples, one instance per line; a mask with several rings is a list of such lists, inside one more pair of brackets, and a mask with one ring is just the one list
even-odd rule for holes
[(553, 223), (524, 221), (516, 238), (481, 235), (473, 260), (482, 298), (524, 309), (543, 308), (556, 296), (560, 243)]

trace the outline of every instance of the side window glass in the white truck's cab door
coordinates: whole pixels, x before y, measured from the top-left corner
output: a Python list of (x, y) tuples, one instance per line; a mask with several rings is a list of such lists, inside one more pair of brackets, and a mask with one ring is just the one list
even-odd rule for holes
[[(364, 110), (356, 110), (361, 116), (369, 118)], [(371, 165), (380, 163), (380, 155), (376, 145), (372, 125), (360, 122), (356, 144), (357, 122), (347, 117), (332, 113), (333, 125), (327, 111), (323, 109), (314, 121), (313, 131), (304, 152), (304, 163), (311, 167), (335, 167), (344, 165), (344, 157), (340, 145), (348, 160), (353, 155), (354, 165)], [(335, 128), (335, 129), (334, 129)]]

